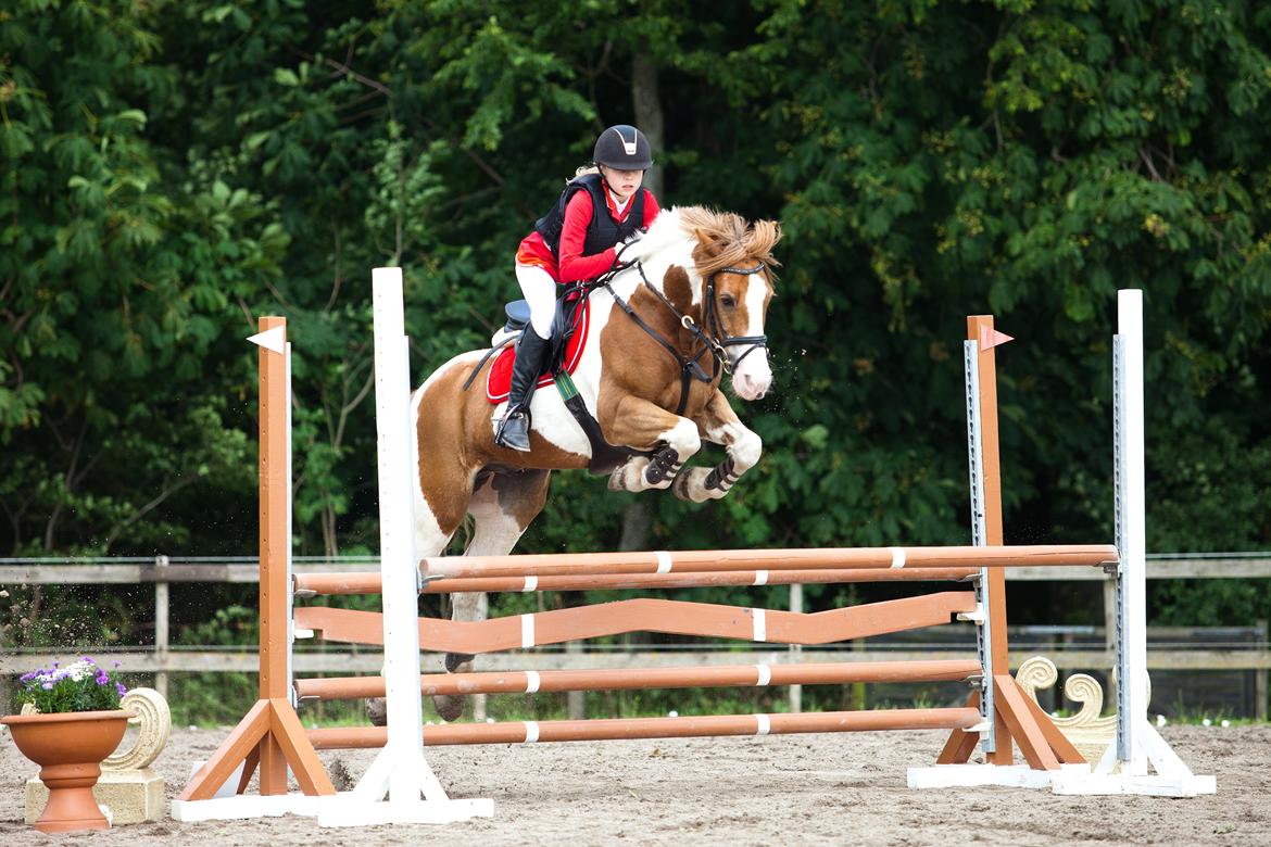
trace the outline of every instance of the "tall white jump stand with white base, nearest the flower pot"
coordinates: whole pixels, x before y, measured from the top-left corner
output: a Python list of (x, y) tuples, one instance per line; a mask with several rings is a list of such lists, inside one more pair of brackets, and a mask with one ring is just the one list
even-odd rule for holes
[(423, 757), (414, 490), (411, 484), (417, 461), (411, 438), (411, 358), (402, 269), (375, 268), (371, 286), (388, 728), (384, 747), (371, 767), (352, 792), (323, 804), (318, 823), (365, 827), (488, 818), (494, 814), (493, 800), (451, 800)]

